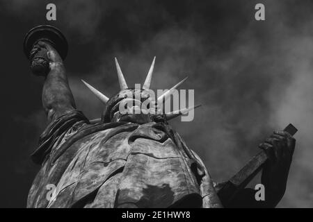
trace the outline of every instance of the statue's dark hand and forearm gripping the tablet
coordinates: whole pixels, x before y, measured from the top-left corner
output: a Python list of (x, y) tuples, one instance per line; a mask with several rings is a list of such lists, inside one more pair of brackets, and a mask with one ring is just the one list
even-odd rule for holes
[(284, 131), (275, 131), (265, 142), (259, 144), (259, 148), (268, 156), (262, 172), (262, 184), (266, 197), (274, 205), (284, 195), (295, 144), (296, 139)]

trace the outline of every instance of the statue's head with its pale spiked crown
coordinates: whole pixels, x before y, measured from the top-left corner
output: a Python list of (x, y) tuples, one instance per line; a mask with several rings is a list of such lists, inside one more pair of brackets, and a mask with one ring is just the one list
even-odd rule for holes
[(175, 112), (163, 113), (164, 101), (169, 99), (172, 92), (179, 87), (179, 85), (182, 85), (187, 78), (184, 78), (174, 87), (166, 90), (155, 99), (155, 94), (150, 89), (154, 62), (155, 57), (152, 61), (147, 77), (145, 78), (143, 87), (137, 87), (138, 84), (136, 84), (136, 87), (129, 88), (124, 75), (122, 74), (122, 70), (120, 69), (120, 65), (118, 64), (118, 60), (115, 58), (115, 65), (118, 71), (118, 82), (120, 83), (120, 92), (111, 96), (111, 98), (105, 96), (93, 86), (82, 80), (88, 89), (90, 89), (91, 92), (93, 92), (93, 94), (106, 105), (101, 118), (102, 122), (135, 121), (138, 123), (145, 123), (153, 121), (154, 118), (163, 118), (163, 120), (166, 121), (178, 117), (181, 114), (186, 114), (188, 111), (200, 106), (197, 105), (195, 107), (184, 108)]

